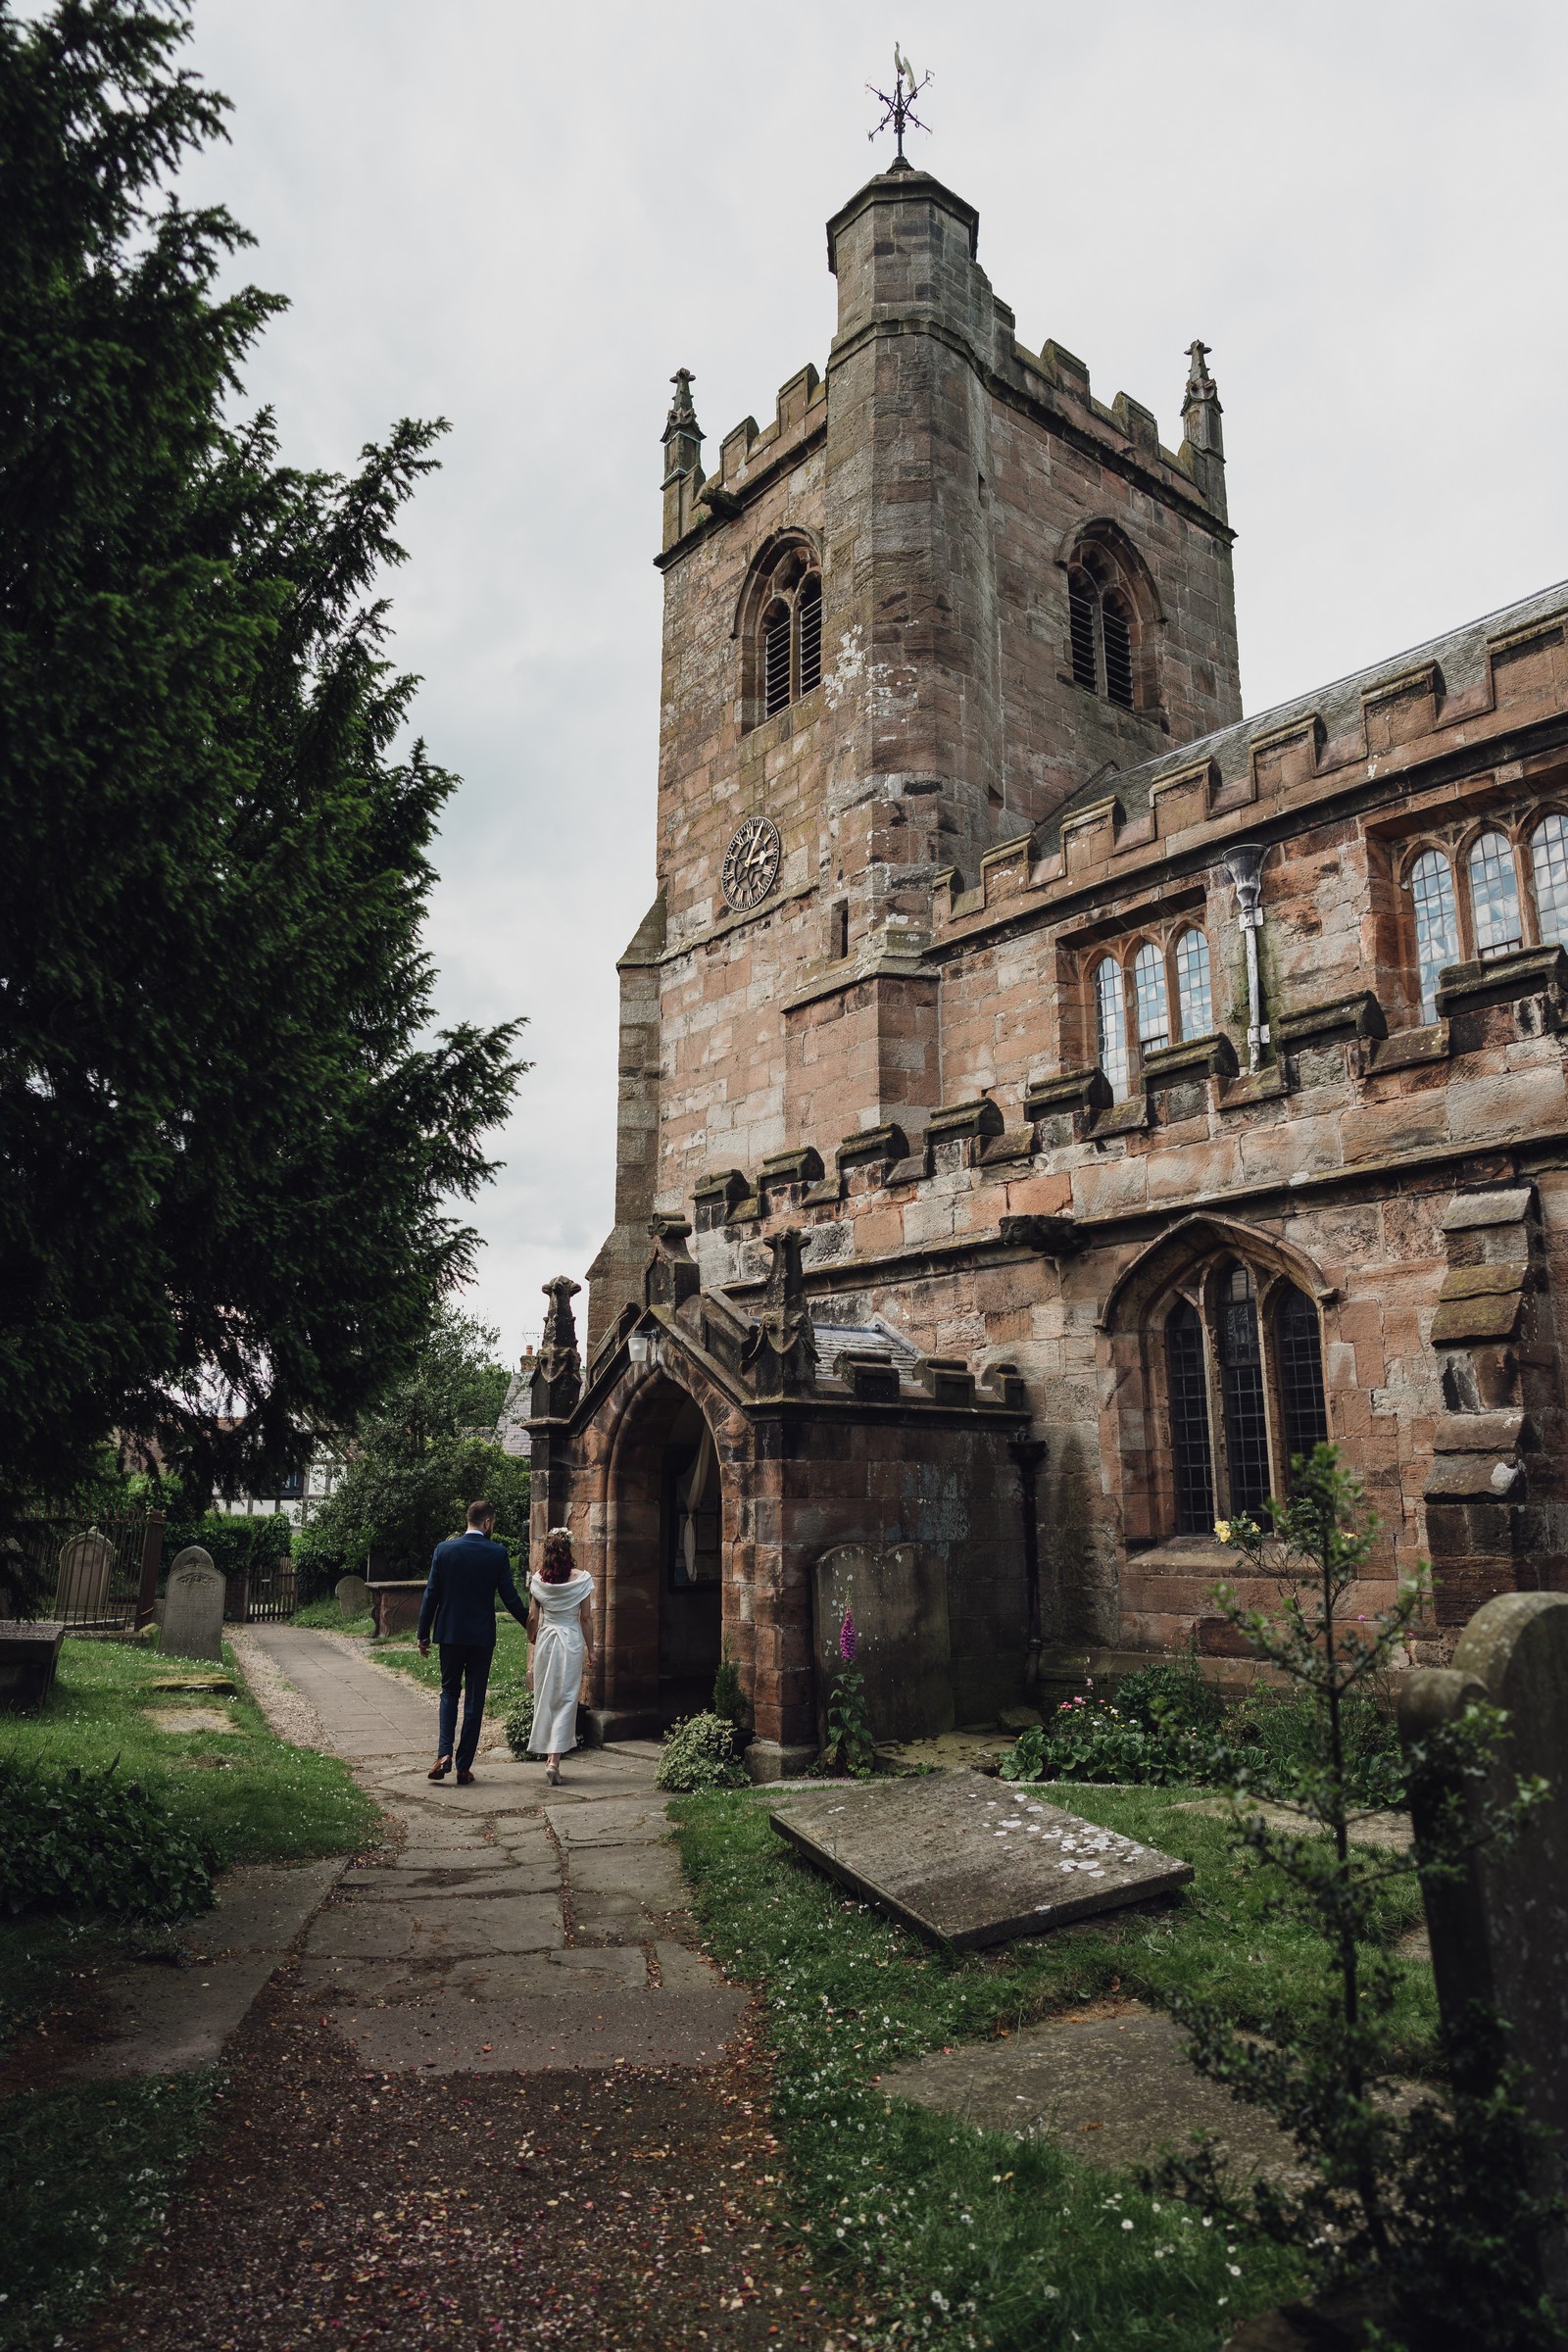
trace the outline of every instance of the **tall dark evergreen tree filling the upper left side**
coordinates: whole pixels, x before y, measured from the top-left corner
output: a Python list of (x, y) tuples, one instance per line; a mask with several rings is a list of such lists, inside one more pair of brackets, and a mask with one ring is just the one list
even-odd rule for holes
[(0, 0), (0, 1531), (110, 1430), (197, 1494), (407, 1374), (517, 1023), (430, 1037), (454, 779), (376, 576), (440, 426), (353, 475), (228, 421), (280, 308), (162, 195), (223, 129), (186, 0)]

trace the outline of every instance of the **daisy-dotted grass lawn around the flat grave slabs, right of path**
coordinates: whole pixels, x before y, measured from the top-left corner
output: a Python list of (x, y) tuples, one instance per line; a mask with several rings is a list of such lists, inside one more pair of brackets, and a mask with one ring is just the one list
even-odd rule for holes
[[(1044, 1792), (1044, 1790), (1041, 1790)], [(799, 2225), (818, 2260), (863, 2279), (886, 2343), (997, 2352), (1213, 2352), (1255, 2310), (1298, 2291), (1291, 2256), (1229, 2239), (1126, 2173), (1053, 2143), (980, 2133), (875, 2077), (931, 2049), (1016, 2032), (1124, 1992), (1173, 1992), (1255, 2020), (1314, 1980), (1316, 1947), (1267, 1917), (1225, 1823), (1175, 1811), (1192, 1790), (1051, 1785), (1053, 1804), (1194, 1863), (1166, 1912), (1103, 1922), (952, 1959), (797, 1860), (750, 1792), (672, 1811), (710, 1950), (766, 1997), (773, 2117)], [(1415, 1922), (1413, 1882), (1389, 1893), (1387, 1940)], [(1399, 2034), (1413, 2070), (1436, 2049), (1432, 1973), (1403, 1971)]]

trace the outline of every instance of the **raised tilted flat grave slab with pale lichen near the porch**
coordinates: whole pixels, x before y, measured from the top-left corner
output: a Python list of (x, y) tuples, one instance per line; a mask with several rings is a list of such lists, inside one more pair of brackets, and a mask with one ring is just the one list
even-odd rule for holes
[(1154, 1846), (978, 1771), (839, 1783), (771, 1813), (827, 1877), (966, 1952), (1175, 1893), (1192, 1877)]

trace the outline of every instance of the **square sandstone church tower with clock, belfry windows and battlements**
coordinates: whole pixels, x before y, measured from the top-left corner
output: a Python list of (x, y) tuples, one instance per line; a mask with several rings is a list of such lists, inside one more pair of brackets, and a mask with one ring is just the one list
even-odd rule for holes
[(976, 256), (973, 205), (900, 158), (827, 223), (825, 376), (712, 473), (675, 379), (658, 894), (621, 962), (590, 1345), (656, 1211), (696, 1202), (701, 1230), (766, 1169), (917, 1148), (957, 1075), (933, 894), (1241, 713), (1206, 348), (1171, 452), (1070, 350), (1027, 350)]

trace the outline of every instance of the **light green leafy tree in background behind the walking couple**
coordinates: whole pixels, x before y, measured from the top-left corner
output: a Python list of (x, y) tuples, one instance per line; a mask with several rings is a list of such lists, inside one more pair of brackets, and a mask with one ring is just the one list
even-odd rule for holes
[(336, 1494), (294, 1538), (313, 1581), (360, 1566), (367, 1552), (383, 1555), (388, 1576), (423, 1576), (475, 1496), (496, 1505), (496, 1538), (522, 1555), (529, 1465), (491, 1437), (508, 1388), (496, 1345), (487, 1324), (442, 1310), (409, 1378), (362, 1418)]

